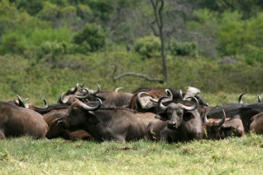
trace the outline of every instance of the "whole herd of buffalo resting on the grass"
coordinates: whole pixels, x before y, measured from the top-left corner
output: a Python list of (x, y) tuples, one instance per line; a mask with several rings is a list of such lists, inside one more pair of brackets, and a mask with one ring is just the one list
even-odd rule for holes
[(19, 95), (0, 102), (0, 138), (32, 136), (66, 140), (182, 142), (263, 133), (263, 103), (242, 102), (210, 107), (200, 90), (141, 88), (132, 93), (87, 89), (62, 93), (57, 104), (37, 107)]

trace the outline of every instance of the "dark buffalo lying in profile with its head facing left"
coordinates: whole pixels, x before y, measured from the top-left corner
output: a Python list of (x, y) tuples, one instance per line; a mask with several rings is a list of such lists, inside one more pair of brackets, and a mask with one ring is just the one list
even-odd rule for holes
[(138, 140), (145, 137), (149, 122), (156, 120), (153, 113), (138, 113), (131, 109), (90, 107), (73, 102), (64, 118), (57, 124), (70, 130), (84, 129), (95, 140)]

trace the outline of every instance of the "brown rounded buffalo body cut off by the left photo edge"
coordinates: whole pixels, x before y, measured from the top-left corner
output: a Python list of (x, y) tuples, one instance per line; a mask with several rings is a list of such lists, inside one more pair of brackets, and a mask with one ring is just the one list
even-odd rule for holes
[(30, 109), (0, 102), (0, 138), (33, 136), (45, 138), (48, 126), (42, 115)]

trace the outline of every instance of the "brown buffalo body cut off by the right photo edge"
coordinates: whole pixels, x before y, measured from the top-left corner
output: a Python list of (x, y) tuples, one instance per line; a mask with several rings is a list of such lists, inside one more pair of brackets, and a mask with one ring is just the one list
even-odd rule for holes
[(263, 134), (263, 112), (251, 118), (250, 130), (257, 134)]

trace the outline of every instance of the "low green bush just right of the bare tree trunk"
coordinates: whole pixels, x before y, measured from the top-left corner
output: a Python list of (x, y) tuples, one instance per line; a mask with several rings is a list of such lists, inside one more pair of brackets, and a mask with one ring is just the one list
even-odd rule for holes
[(172, 41), (168, 50), (173, 56), (193, 56), (197, 57), (197, 44), (195, 42), (178, 42), (176, 40)]

